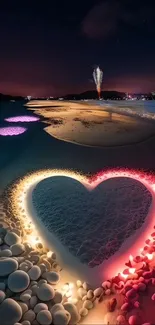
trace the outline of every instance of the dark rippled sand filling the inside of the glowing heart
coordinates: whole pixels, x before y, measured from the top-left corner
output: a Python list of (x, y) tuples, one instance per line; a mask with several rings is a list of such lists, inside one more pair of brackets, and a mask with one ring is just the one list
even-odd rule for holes
[(142, 226), (152, 201), (150, 192), (134, 179), (110, 179), (88, 191), (64, 176), (41, 181), (32, 199), (46, 228), (92, 268)]

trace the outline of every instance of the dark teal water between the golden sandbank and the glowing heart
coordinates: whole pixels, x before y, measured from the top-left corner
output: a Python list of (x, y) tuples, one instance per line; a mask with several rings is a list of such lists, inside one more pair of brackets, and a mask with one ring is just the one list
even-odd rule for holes
[[(1, 102), (0, 126), (8, 125), (4, 121), (6, 117), (34, 114), (23, 104), (24, 102)], [(0, 136), (1, 186), (8, 185), (28, 172), (46, 167), (73, 169), (84, 173), (116, 167), (155, 169), (155, 137), (129, 146), (90, 148), (51, 137), (44, 131), (46, 124), (42, 120), (17, 124), (27, 127), (28, 131), (20, 136)]]

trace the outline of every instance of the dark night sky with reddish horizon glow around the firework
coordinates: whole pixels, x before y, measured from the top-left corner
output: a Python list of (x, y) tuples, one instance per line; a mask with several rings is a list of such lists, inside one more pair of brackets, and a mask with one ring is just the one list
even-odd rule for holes
[(155, 90), (154, 0), (5, 0), (0, 92), (56, 96), (94, 89)]

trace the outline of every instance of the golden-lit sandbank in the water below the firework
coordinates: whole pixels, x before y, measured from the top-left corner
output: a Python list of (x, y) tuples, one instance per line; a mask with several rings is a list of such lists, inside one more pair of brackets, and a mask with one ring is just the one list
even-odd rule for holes
[[(41, 107), (42, 105), (42, 107)], [(106, 111), (96, 103), (32, 101), (27, 104), (44, 117), (45, 131), (57, 139), (86, 146), (119, 146), (154, 135), (154, 121)]]

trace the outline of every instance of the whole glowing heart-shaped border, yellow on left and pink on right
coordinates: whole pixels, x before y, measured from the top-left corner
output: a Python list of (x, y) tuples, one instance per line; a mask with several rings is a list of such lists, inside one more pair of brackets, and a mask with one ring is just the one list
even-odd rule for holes
[[(81, 280), (87, 279), (87, 281), (92, 283), (94, 286), (101, 284), (101, 282), (105, 279), (115, 277), (119, 273), (121, 273), (121, 275), (125, 278), (126, 276), (123, 274), (123, 271), (126, 268), (125, 263), (130, 260), (131, 256), (136, 257), (137, 255), (139, 256), (142, 254), (142, 247), (144, 247), (145, 240), (151, 238), (150, 235), (155, 225), (155, 176), (144, 172), (122, 169), (102, 171), (93, 177), (87, 177), (79, 173), (67, 170), (40, 170), (38, 172), (26, 175), (23, 179), (20, 179), (19, 182), (15, 183), (13, 186), (11, 191), (11, 205), (14, 215), (18, 216), (20, 219), (22, 228), (25, 230), (25, 233), (28, 229), (31, 230), (32, 234), (27, 236), (25, 240), (28, 240), (34, 246), (37, 241), (39, 241), (39, 237), (37, 230), (33, 224), (34, 218), (32, 217), (32, 210), (29, 209), (28, 202), (31, 200), (32, 191), (37, 183), (43, 179), (53, 176), (71, 177), (81, 182), (88, 190), (92, 190), (99, 183), (111, 178), (129, 177), (141, 182), (150, 191), (152, 194), (152, 204), (142, 227), (137, 230), (133, 236), (130, 236), (125, 241), (117, 253), (110, 257), (107, 261), (104, 261), (102, 264), (94, 267), (91, 270), (87, 266), (81, 264), (76, 258), (74, 258), (74, 256), (72, 256), (65, 247), (58, 243), (58, 240), (52, 235), (52, 242), (54, 241), (55, 244), (58, 244), (59, 249), (61, 249), (61, 255), (63, 255), (63, 259), (60, 258), (62, 267), (64, 266), (66, 268), (68, 266), (69, 268), (72, 268), (72, 265), (74, 265), (74, 268), (77, 268), (78, 272), (76, 274), (74, 273), (74, 270), (72, 270), (74, 277), (77, 276), (78, 278), (81, 278)], [(43, 224), (40, 228), (43, 229), (43, 232), (45, 231)], [(44, 238), (46, 234), (47, 233), (45, 232)], [(53, 250), (55, 251), (55, 247)], [(68, 256), (68, 261), (71, 261), (70, 265), (66, 263), (66, 257)], [(148, 255), (148, 258), (151, 259), (152, 256)]]

